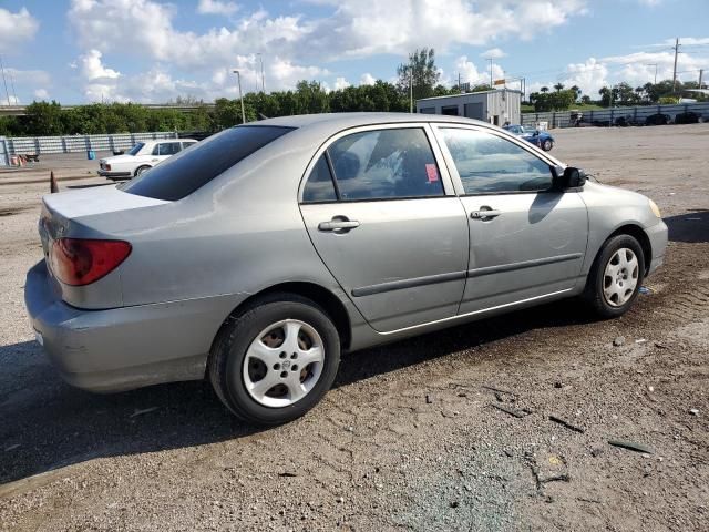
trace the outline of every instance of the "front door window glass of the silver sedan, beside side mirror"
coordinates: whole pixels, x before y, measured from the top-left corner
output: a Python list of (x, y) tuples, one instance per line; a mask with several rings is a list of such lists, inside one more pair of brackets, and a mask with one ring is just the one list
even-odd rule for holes
[(551, 188), (549, 165), (513, 142), (482, 131), (441, 131), (465, 194)]

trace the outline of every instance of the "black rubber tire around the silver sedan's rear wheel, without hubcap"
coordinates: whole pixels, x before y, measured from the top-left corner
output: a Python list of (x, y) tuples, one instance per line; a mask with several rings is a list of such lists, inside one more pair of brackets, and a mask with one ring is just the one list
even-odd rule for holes
[[(285, 407), (264, 406), (254, 399), (242, 375), (246, 352), (258, 335), (284, 319), (308, 324), (320, 336), (325, 360), (312, 389)], [(327, 313), (315, 301), (295, 294), (270, 294), (249, 305), (224, 325), (212, 347), (208, 376), (215, 392), (238, 418), (263, 426), (292, 421), (315, 407), (330, 389), (340, 364), (340, 337)]]

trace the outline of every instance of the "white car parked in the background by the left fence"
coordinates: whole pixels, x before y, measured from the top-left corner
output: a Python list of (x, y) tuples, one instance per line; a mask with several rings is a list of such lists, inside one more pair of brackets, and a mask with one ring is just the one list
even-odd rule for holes
[(166, 139), (138, 142), (122, 155), (99, 161), (99, 175), (109, 180), (130, 180), (196, 144), (194, 139)]

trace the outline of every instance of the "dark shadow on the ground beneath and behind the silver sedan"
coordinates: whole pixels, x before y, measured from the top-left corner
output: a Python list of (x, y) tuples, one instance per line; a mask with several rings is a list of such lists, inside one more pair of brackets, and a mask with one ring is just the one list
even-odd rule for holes
[[(583, 307), (582, 307), (583, 308)], [(335, 387), (541, 327), (593, 318), (574, 300), (549, 304), (342, 357)], [(65, 385), (34, 341), (0, 347), (2, 484), (95, 458), (188, 448), (261, 428), (234, 418), (205, 381), (95, 395)]]

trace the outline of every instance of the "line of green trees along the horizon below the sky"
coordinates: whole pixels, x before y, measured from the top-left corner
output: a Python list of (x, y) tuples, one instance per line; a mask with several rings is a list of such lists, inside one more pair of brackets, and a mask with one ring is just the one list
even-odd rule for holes
[[(246, 121), (292, 114), (341, 113), (357, 111), (408, 112), (413, 101), (458, 94), (459, 88), (446, 88), (440, 82), (433, 49), (415, 50), (408, 62), (397, 68), (395, 83), (378, 80), (371, 85), (347, 86), (328, 91), (317, 81), (300, 81), (295, 90), (277, 92), (251, 92), (244, 95)], [(593, 101), (574, 85), (566, 89), (563, 83), (554, 91), (542, 86), (530, 94), (528, 102), (537, 112), (563, 111), (579, 103), (609, 105), (641, 105), (671, 103), (664, 101), (685, 89), (695, 89), (697, 83), (672, 81), (646, 83), (633, 88), (618, 83), (599, 91), (600, 99)], [(491, 90), (486, 84), (473, 86), (471, 92)], [(701, 99), (701, 96), (698, 96)], [(189, 104), (193, 111), (178, 109), (154, 109), (136, 103), (92, 103), (62, 109), (52, 102), (33, 102), (27, 106), (24, 116), (0, 116), (0, 135), (4, 136), (54, 136), (90, 135), (112, 133), (137, 133), (143, 131), (187, 131), (212, 133), (242, 123), (242, 102), (238, 99), (219, 98), (214, 105), (194, 99), (177, 99), (176, 105)]]

